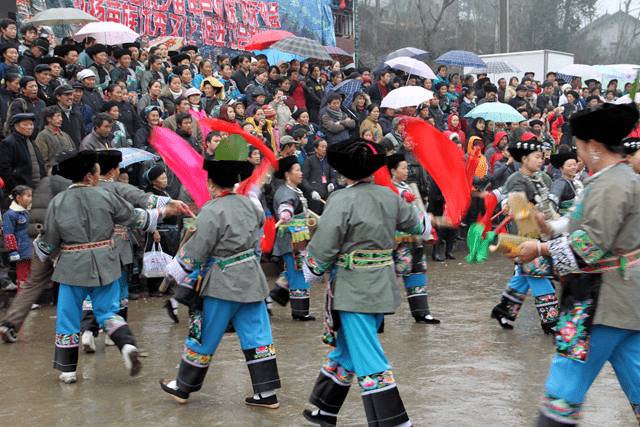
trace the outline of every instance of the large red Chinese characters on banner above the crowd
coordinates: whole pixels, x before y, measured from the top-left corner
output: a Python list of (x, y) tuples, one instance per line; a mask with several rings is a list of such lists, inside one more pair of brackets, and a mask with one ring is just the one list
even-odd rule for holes
[[(101, 21), (140, 35), (184, 37), (215, 50), (243, 50), (249, 39), (280, 28), (279, 6), (264, 0), (74, 0)], [(216, 49), (217, 48), (217, 49)], [(207, 49), (208, 50), (208, 49)]]

